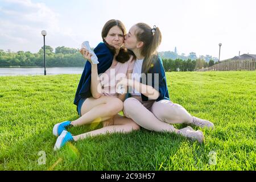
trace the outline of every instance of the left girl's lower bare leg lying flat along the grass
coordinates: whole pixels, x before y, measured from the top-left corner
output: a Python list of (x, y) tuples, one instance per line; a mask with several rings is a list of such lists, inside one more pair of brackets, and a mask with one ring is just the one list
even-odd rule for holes
[(129, 133), (133, 130), (139, 130), (139, 125), (135, 123), (132, 119), (122, 117), (121, 115), (115, 115), (114, 125), (102, 127), (101, 129), (89, 131), (88, 133), (84, 133), (81, 135), (73, 136), (75, 141), (85, 139), (86, 137), (93, 137), (101, 134), (107, 133)]

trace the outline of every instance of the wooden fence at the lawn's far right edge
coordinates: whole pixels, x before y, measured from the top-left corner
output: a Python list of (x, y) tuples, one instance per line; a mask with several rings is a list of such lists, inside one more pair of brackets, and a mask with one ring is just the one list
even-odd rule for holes
[(205, 71), (255, 71), (256, 64), (255, 59), (247, 60), (227, 60), (221, 63), (215, 64), (209, 68), (197, 69), (197, 72)]

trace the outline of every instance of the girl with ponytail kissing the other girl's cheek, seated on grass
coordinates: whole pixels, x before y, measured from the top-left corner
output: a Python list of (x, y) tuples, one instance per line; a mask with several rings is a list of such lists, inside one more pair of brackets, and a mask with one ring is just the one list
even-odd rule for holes
[(178, 130), (172, 126), (186, 123), (214, 127), (213, 123), (192, 116), (183, 106), (170, 101), (163, 63), (156, 52), (161, 40), (159, 28), (151, 28), (145, 23), (135, 24), (125, 36), (125, 47), (133, 51), (137, 60), (131, 79), (123, 78), (117, 84), (129, 87), (130, 98), (123, 104), (123, 113), (145, 129), (167, 131), (204, 142), (202, 131), (195, 131), (190, 126)]

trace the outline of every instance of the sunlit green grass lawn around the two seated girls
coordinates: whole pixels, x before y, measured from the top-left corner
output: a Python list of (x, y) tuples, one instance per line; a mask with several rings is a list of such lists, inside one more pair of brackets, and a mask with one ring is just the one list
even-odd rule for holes
[[(0, 170), (256, 169), (256, 72), (167, 73), (171, 100), (216, 126), (202, 130), (204, 144), (142, 129), (87, 138), (55, 152), (53, 125), (78, 118), (73, 98), (79, 79), (0, 77)], [(39, 151), (46, 152), (45, 165), (38, 164)], [(216, 152), (216, 165), (209, 164), (210, 151)]]

